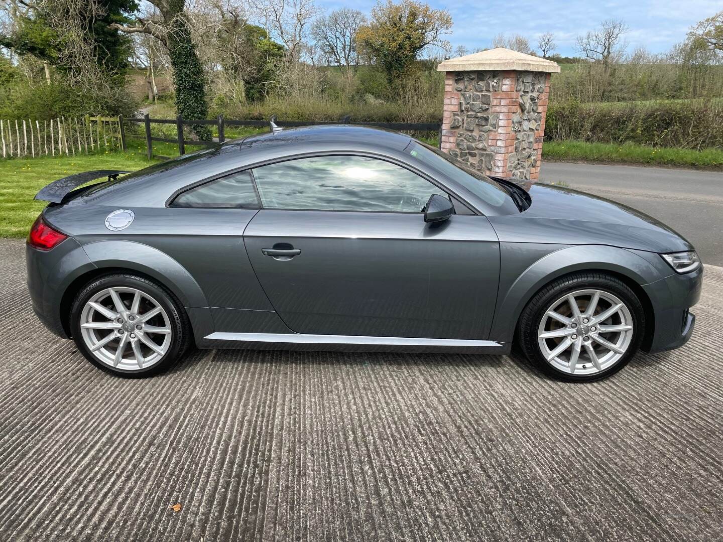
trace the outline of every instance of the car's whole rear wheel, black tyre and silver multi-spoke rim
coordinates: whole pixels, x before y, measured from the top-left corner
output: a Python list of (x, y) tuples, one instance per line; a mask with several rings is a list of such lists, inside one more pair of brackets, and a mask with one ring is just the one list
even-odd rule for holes
[(91, 364), (127, 378), (168, 369), (187, 350), (192, 333), (186, 311), (168, 288), (129, 273), (87, 283), (74, 299), (70, 324), (78, 350)]

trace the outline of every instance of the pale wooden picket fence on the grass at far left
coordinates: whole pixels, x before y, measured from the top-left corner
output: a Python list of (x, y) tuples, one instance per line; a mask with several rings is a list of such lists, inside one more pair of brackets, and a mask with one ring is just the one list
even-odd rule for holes
[(89, 116), (80, 119), (59, 117), (0, 119), (3, 158), (75, 156), (89, 152), (126, 150), (123, 117)]

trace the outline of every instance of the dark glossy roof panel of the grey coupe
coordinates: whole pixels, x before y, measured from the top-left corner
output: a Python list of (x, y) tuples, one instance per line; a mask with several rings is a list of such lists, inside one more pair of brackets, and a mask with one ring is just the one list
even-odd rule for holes
[(287, 128), (278, 132), (250, 135), (241, 142), (241, 148), (252, 147), (285, 147), (290, 145), (342, 145), (343, 147), (382, 147), (385, 149), (404, 150), (411, 137), (377, 126), (360, 126), (355, 124), (317, 124)]

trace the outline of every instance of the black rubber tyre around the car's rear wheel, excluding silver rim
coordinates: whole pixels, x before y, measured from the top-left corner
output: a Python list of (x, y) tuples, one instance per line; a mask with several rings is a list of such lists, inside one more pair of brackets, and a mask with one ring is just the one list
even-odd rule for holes
[[(83, 307), (85, 307), (87, 301), (99, 291), (105, 290), (106, 288), (116, 287), (129, 287), (140, 290), (142, 293), (145, 293), (147, 296), (150, 296), (157, 301), (168, 315), (168, 325), (171, 327), (171, 345), (160, 360), (156, 361), (155, 364), (147, 367), (146, 369), (128, 371), (127, 369), (116, 369), (108, 364), (104, 364), (96, 358), (92, 352), (90, 352), (82, 338), (80, 317)], [(176, 299), (172, 297), (172, 294), (167, 292), (165, 288), (159, 287), (150, 280), (126, 274), (104, 275), (92, 280), (90, 283), (85, 285), (84, 288), (82, 288), (80, 293), (78, 293), (70, 311), (70, 324), (73, 340), (75, 341), (78, 350), (80, 350), (83, 356), (85, 356), (91, 364), (110, 374), (127, 378), (140, 378), (158, 374), (168, 369), (168, 366), (170, 366), (176, 358), (183, 353), (187, 343), (187, 332), (184, 329), (183, 314), (184, 313), (181, 313), (181, 307)]]

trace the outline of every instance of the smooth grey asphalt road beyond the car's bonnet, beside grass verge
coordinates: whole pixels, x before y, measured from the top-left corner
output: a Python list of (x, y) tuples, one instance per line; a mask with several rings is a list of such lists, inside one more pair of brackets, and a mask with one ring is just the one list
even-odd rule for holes
[(543, 160), (540, 180), (635, 207), (687, 238), (704, 263), (723, 266), (723, 173)]

